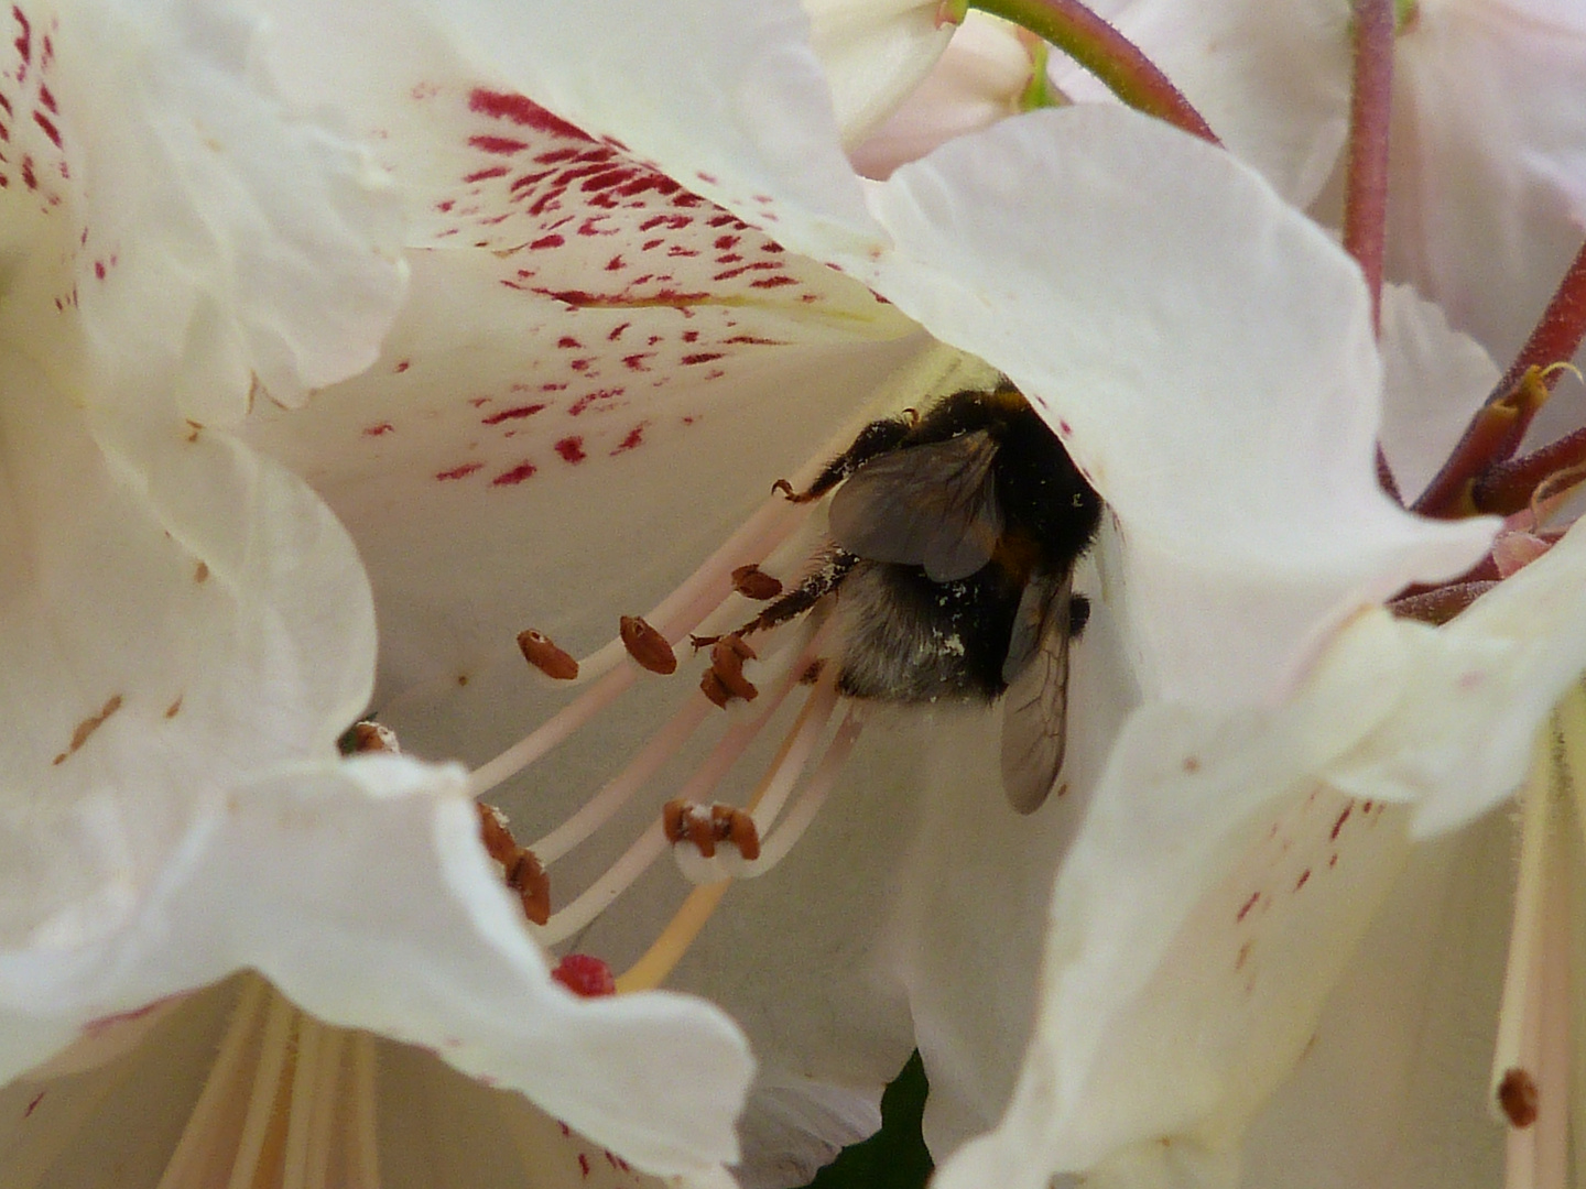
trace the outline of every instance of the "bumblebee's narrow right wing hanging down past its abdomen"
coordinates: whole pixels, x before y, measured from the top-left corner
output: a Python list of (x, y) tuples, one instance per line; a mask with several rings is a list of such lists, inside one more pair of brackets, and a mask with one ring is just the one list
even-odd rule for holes
[(1036, 574), (1018, 602), (1002, 677), (1002, 791), (1034, 813), (1063, 769), (1072, 575)]

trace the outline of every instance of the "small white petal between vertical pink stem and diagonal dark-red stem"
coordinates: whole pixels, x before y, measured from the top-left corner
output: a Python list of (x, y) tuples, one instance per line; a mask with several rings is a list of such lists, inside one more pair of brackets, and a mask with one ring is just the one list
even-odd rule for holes
[(1381, 444), (1407, 501), (1419, 495), (1497, 387), (1481, 346), (1407, 285), (1383, 289)]

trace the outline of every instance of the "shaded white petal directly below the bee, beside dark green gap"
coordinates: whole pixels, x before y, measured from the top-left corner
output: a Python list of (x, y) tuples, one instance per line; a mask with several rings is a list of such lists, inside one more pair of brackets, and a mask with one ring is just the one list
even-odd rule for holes
[[(1102, 533), (1105, 561), (1115, 542), (1105, 526)], [(1091, 596), (1093, 610), (1072, 645), (1061, 791), (1031, 816), (1006, 804), (1001, 707), (960, 721), (940, 715), (920, 745), (929, 747), (923, 796), (912, 812), (920, 831), (902, 864), (887, 950), (909, 989), (931, 1084), (925, 1138), (937, 1160), (994, 1126), (1007, 1107), (1036, 1016), (1042, 908), (1113, 739), (1139, 701), (1117, 617), (1099, 598), (1105, 585), (1090, 563), (1080, 566), (1075, 590)]]

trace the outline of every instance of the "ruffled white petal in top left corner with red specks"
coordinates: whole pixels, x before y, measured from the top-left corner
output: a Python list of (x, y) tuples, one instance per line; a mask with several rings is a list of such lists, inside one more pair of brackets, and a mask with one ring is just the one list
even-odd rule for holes
[(21, 154), (38, 182), (10, 189), (44, 201), (71, 274), (40, 274), (33, 311), (10, 317), (59, 344), (81, 312), (76, 366), (116, 377), (124, 401), (127, 377), (152, 373), (201, 422), (239, 419), (251, 377), (290, 400), (373, 360), (403, 290), (398, 206), (362, 151), (259, 78), (244, 10), (102, 3), (13, 19), (35, 25), (10, 76), (19, 130), (59, 146)]

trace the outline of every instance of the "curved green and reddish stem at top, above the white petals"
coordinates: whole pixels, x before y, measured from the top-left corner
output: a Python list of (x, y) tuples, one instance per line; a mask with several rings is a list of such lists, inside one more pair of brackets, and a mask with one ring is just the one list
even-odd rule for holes
[(1218, 143), (1201, 113), (1139, 46), (1078, 0), (945, 0), (942, 8), (950, 21), (963, 21), (969, 8), (1012, 21), (1072, 57), (1136, 111)]

